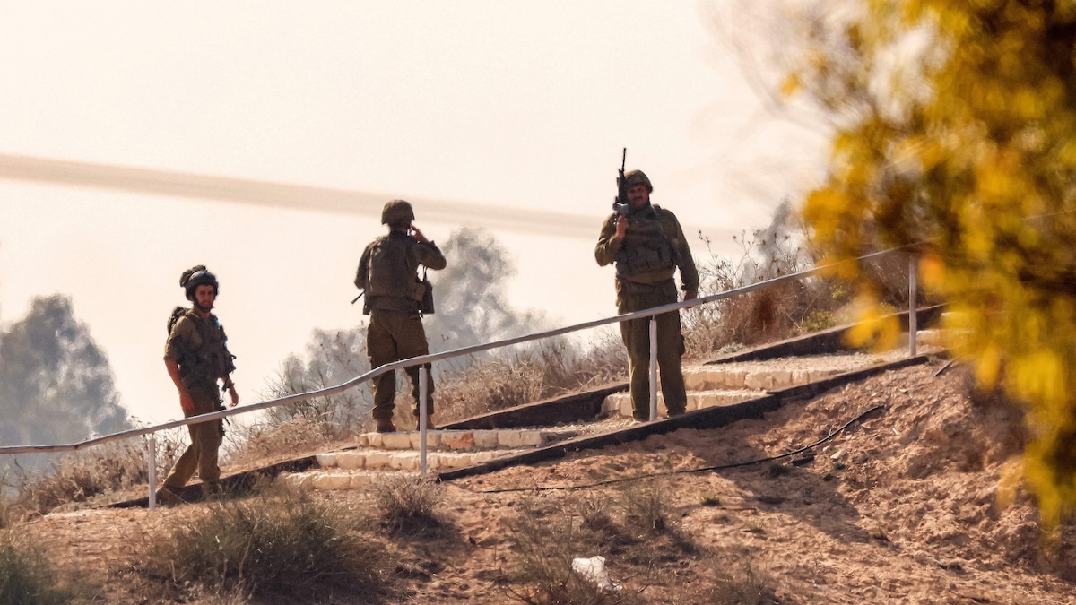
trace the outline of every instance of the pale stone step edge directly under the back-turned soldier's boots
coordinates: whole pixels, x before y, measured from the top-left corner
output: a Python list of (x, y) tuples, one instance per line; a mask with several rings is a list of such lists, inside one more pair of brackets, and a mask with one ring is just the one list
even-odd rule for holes
[[(542, 428), (499, 428), (492, 431), (427, 431), (427, 449), (448, 450), (500, 450), (506, 448), (540, 447), (578, 436), (578, 431)], [(386, 450), (417, 450), (419, 431), (396, 433), (364, 433), (358, 437), (358, 448)]]

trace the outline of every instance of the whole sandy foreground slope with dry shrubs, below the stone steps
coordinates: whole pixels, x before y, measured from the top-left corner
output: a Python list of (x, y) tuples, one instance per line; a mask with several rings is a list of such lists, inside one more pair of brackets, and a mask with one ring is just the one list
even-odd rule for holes
[[(1076, 530), (1044, 541), (1023, 490), (999, 497), (1025, 438), (1019, 410), (968, 397), (955, 368), (934, 376), (943, 366), (721, 431), (447, 483), (271, 484), (154, 511), (48, 515), (6, 534), (40, 545), (23, 559), (37, 571), (0, 573), (75, 603), (1073, 602)], [(694, 472), (792, 451), (879, 404), (795, 464)], [(597, 554), (619, 590), (572, 572)]]

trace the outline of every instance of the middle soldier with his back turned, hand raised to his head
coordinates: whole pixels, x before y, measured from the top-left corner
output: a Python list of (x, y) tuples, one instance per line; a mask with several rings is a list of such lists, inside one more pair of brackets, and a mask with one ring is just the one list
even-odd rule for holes
[[(363, 290), (366, 299), (363, 312), (370, 315), (366, 333), (366, 348), (370, 367), (426, 355), (429, 344), (422, 327), (420, 302), (426, 294), (416, 271), (419, 266), (439, 270), (445, 266), (444, 255), (437, 244), (426, 239), (413, 224), (414, 210), (402, 199), (394, 199), (381, 211), (381, 224), (388, 226), (388, 235), (370, 242), (363, 252), (355, 273), (355, 285)], [(429, 364), (426, 364), (429, 378)], [(396, 431), (393, 423), (393, 399), (396, 396), (396, 372), (386, 372), (373, 379), (373, 420), (379, 433)], [(411, 379), (411, 408), (419, 419), (419, 366), (407, 368)], [(427, 380), (427, 418), (434, 414), (434, 381)], [(431, 428), (430, 423), (427, 428)]]

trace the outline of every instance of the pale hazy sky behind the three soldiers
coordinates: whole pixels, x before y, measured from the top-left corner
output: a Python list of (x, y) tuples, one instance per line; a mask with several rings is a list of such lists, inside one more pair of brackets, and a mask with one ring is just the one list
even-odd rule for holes
[[(735, 19), (669, 0), (0, 0), (0, 155), (462, 208), (430, 222), (416, 202), (440, 241), (490, 225), (476, 205), (514, 209), (515, 228), (491, 228), (519, 268), (510, 299), (567, 325), (615, 312), (593, 247), (622, 147), (719, 252), (817, 178), (822, 136), (762, 109), (714, 15)], [(72, 296), (139, 419), (181, 416), (160, 360), (194, 264), (221, 279), (245, 403), (313, 328), (362, 319), (349, 302), (376, 215), (11, 175), (0, 161), (0, 322)], [(528, 228), (543, 211), (569, 216), (563, 236)]]

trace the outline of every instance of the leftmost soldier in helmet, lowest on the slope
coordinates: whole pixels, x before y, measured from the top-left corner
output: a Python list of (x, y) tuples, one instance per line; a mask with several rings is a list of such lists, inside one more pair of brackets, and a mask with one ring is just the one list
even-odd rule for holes
[[(180, 285), (192, 301), (190, 309), (183, 312), (176, 308), (174, 323), (165, 343), (165, 367), (180, 393), (180, 406), (184, 418), (211, 413), (224, 407), (221, 405), (217, 381), (224, 381), (222, 389), (228, 391), (231, 406), (239, 404), (236, 383), (231, 372), (236, 369), (228, 352), (227, 336), (216, 315), (210, 311), (216, 300), (220, 285), (216, 276), (198, 265), (183, 272)], [(190, 446), (175, 461), (165, 484), (157, 492), (161, 502), (180, 502), (180, 492), (187, 480), (198, 470), (203, 494), (220, 492), (221, 467), (217, 466), (217, 449), (224, 437), (224, 425), (220, 419), (187, 425)]]

